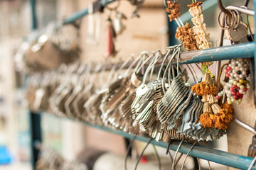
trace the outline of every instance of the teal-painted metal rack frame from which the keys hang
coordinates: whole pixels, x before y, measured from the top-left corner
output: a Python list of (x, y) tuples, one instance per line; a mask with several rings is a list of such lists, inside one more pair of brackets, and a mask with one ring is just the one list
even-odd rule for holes
[[(115, 0), (105, 0), (104, 4), (110, 4), (114, 2)], [(256, 6), (256, 0), (253, 0), (254, 6)], [(101, 1), (101, 6), (104, 6), (103, 1)], [(217, 4), (217, 0), (207, 0), (203, 4), (203, 10), (206, 10), (210, 8), (211, 6), (214, 6)], [(33, 29), (36, 29), (36, 0), (31, 0), (31, 11), (32, 11), (32, 26)], [(64, 20), (65, 24), (73, 23), (74, 21), (78, 20), (79, 18), (82, 18), (83, 16), (87, 15), (88, 8), (85, 8), (85, 10), (78, 11), (77, 13), (74, 13), (72, 16), (66, 18)], [(252, 13), (255, 15), (255, 13)], [(191, 16), (189, 13), (184, 13), (181, 16), (182, 21), (188, 21)], [(256, 23), (256, 17), (255, 17), (255, 23)], [(170, 40), (171, 41), (171, 40)], [(245, 44), (240, 45), (231, 45), (231, 46), (224, 46), (224, 47), (215, 47), (210, 48), (207, 50), (196, 50), (193, 52), (183, 52), (181, 54), (180, 58), (180, 64), (188, 64), (188, 63), (196, 63), (196, 62), (210, 62), (210, 61), (218, 61), (218, 60), (232, 60), (232, 59), (238, 59), (238, 58), (252, 58), (255, 60), (256, 57), (256, 42), (248, 42)], [(256, 62), (255, 62), (255, 68), (256, 68)], [(255, 77), (255, 84), (256, 84), (256, 77)], [(256, 96), (256, 95), (255, 95)], [(31, 149), (32, 149), (32, 159), (33, 159), (33, 166), (36, 164), (36, 161), (38, 159), (38, 150), (34, 147), (35, 142), (41, 142), (41, 115), (38, 113), (30, 113), (31, 115)], [(77, 121), (77, 120), (74, 120)], [(105, 128), (100, 125), (92, 125), (90, 123), (84, 123), (85, 125), (91, 126), (92, 128), (97, 128), (100, 130), (105, 130), (107, 132), (112, 132), (117, 135), (122, 135), (123, 137), (127, 138), (134, 138), (133, 135), (129, 135), (126, 132), (122, 132), (120, 130), (112, 130), (110, 128)], [(252, 132), (256, 134), (256, 132), (252, 129)], [(138, 136), (136, 137), (136, 140), (142, 141), (142, 142), (149, 142), (149, 137), (144, 136)], [(173, 142), (170, 146), (171, 150), (176, 150), (178, 148), (180, 142)], [(166, 148), (168, 143), (166, 142), (157, 142), (156, 140), (153, 140), (151, 144), (154, 144), (159, 147)], [(188, 150), (191, 148), (191, 144), (183, 143), (178, 150), (178, 152), (181, 152), (183, 154), (187, 154)], [(210, 149), (207, 147), (201, 147), (201, 146), (195, 146), (189, 153), (192, 157), (198, 157), (200, 159), (206, 159), (210, 162), (216, 162), (218, 164), (223, 164), (226, 166), (234, 167), (237, 169), (248, 169), (250, 167), (250, 164), (252, 163), (253, 158), (252, 157), (244, 157), (238, 154), (232, 154), (228, 152), (223, 152), (217, 149)], [(256, 169), (256, 165), (252, 166), (252, 169)]]

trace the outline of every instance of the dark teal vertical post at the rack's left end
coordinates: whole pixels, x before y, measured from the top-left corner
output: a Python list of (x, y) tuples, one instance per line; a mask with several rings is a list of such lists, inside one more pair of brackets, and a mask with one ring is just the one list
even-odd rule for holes
[[(37, 28), (36, 18), (36, 0), (30, 0), (31, 3), (31, 18), (32, 30)], [(30, 131), (31, 131), (31, 164), (32, 169), (35, 169), (36, 162), (38, 161), (39, 150), (34, 147), (35, 142), (41, 142), (41, 115), (29, 111)]]

